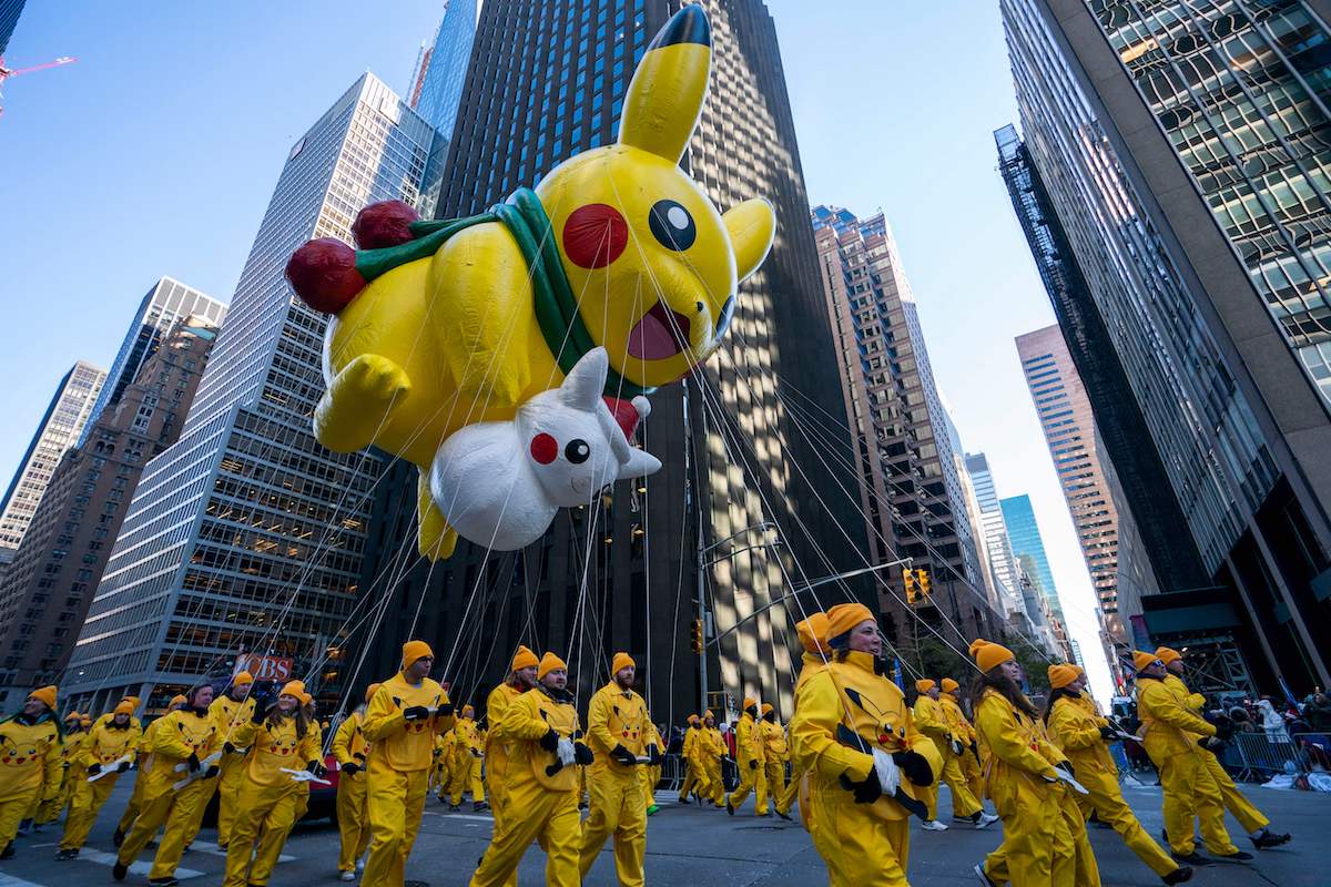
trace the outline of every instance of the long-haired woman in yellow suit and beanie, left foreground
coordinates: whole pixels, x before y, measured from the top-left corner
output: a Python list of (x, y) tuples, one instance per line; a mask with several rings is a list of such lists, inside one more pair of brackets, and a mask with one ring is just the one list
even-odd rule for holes
[[(305, 685), (290, 681), (276, 702), (258, 699), (249, 722), (232, 731), (232, 743), (249, 753), (241, 765), (244, 775), (237, 789), (236, 822), (226, 847), (222, 887), (268, 884), (286, 835), (299, 817), (303, 795), (309, 794), (309, 783), (297, 781), (286, 770), (323, 775), (319, 730), (305, 717), (303, 696)], [(262, 842), (256, 854), (261, 831)]]

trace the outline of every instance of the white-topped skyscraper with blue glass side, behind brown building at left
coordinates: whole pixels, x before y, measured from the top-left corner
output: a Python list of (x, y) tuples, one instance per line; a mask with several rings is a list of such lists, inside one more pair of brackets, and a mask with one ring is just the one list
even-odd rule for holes
[(157, 281), (153, 289), (148, 290), (129, 322), (116, 359), (110, 363), (106, 382), (79, 439), (80, 445), (88, 439), (88, 430), (102, 411), (120, 403), (125, 387), (138, 378), (144, 362), (157, 348), (162, 336), (176, 323), (190, 317), (200, 318), (213, 327), (221, 327), (226, 318), (226, 306), (169, 277)]

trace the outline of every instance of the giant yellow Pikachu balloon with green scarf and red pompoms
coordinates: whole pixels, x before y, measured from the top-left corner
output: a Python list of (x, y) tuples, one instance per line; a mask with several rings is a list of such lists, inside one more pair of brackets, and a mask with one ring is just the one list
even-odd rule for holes
[(457, 543), (425, 473), (463, 426), (511, 419), (596, 347), (604, 395), (673, 382), (717, 347), (739, 282), (776, 230), (764, 199), (721, 214), (679, 168), (707, 96), (711, 29), (680, 9), (647, 48), (619, 140), (583, 152), (482, 215), (421, 221), (405, 203), (361, 211), (357, 245), (302, 246), (286, 274), (331, 314), (319, 443), (371, 444), (421, 467), (421, 552)]

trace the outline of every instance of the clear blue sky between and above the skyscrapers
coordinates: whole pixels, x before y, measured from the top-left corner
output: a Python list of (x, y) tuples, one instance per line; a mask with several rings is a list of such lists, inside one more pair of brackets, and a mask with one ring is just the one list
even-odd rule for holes
[[(965, 444), (1001, 496), (1030, 493), (1093, 653), (1090, 581), (1013, 343), (1053, 314), (994, 169), (992, 130), (1016, 116), (998, 3), (904, 5), (768, 0), (809, 199), (886, 211)], [(28, 4), (8, 64), (79, 63), (4, 88), (0, 481), (60, 375), (108, 366), (158, 277), (230, 299), (290, 144), (366, 69), (405, 92), (439, 7)], [(1107, 672), (1093, 678), (1103, 696)]]

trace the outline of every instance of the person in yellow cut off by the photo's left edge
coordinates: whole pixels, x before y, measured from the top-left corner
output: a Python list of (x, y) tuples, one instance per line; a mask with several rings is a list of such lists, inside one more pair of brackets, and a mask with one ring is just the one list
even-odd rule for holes
[(60, 750), (53, 686), (37, 688), (17, 714), (0, 721), (0, 859), (13, 856), (19, 823), (33, 802), (60, 791)]

